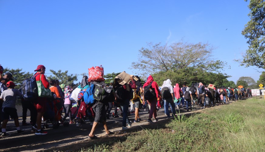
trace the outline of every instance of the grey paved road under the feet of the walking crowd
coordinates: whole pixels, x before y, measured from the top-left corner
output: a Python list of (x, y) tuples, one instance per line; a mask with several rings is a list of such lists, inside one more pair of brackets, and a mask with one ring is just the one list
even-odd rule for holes
[[(195, 108), (200, 109), (200, 107)], [(184, 112), (186, 112), (186, 110), (182, 108), (180, 110), (180, 113)], [(148, 119), (149, 115), (148, 111), (144, 111), (143, 109), (141, 109), (139, 115), (143, 119), (143, 121), (141, 121), (141, 123), (133, 123), (132, 127), (138, 126), (142, 123), (147, 123), (146, 120)], [(29, 117), (27, 119), (29, 119)], [(129, 119), (133, 121), (134, 114), (131, 114)], [(158, 119), (166, 119), (164, 109), (159, 109)], [(110, 131), (120, 131), (121, 121), (122, 117), (110, 117), (110, 119), (107, 120), (107, 126), (109, 127)], [(19, 119), (19, 122), (20, 124), (22, 124), (22, 118)], [(29, 122), (29, 120), (27, 120), (27, 122)], [(46, 131), (48, 132), (48, 134), (46, 135), (35, 135), (34, 133), (31, 133), (30, 125), (21, 126), (22, 129), (25, 129), (25, 134), (17, 135), (14, 121), (11, 120), (8, 122), (7, 125), (7, 132), (9, 132), (11, 136), (0, 139), (0, 151), (39, 151), (47, 150), (51, 147), (64, 146), (71, 142), (82, 142), (84, 138), (87, 137), (92, 127), (89, 121), (85, 122), (86, 123), (83, 124), (82, 127), (76, 127), (76, 124), (70, 124), (69, 127), (64, 127), (63, 125), (60, 125), (58, 129), (53, 129), (50, 124), (50, 127), (46, 129)], [(159, 121), (157, 123), (159, 123)], [(105, 132), (103, 126), (99, 124), (96, 135), (100, 136), (104, 134)]]

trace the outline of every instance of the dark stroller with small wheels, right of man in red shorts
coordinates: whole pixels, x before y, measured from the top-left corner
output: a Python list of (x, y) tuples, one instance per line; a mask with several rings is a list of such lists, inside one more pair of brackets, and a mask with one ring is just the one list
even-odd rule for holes
[[(54, 94), (52, 92), (52, 94)], [(53, 128), (57, 129), (60, 125), (59, 120), (62, 118), (62, 111), (63, 111), (63, 106), (61, 102), (61, 98), (50, 98), (50, 100), (46, 103), (46, 112), (43, 114), (43, 121), (46, 122), (46, 124), (43, 124), (42, 128), (43, 129), (48, 129), (49, 125), (48, 123), (53, 124)], [(63, 123), (64, 127), (69, 126), (69, 122), (64, 122)]]

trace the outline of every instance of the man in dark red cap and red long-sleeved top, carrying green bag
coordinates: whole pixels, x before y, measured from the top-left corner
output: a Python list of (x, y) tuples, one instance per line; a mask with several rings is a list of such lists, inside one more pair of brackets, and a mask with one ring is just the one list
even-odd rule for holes
[[(47, 89), (49, 88), (50, 84), (49, 81), (46, 79), (45, 77), (45, 66), (44, 65), (38, 65), (38, 67), (36, 68), (36, 73), (34, 76), (36, 81), (40, 81), (40, 76), (41, 76), (41, 82), (43, 84), (43, 86)], [(36, 120), (36, 124), (32, 126), (32, 130), (36, 131), (36, 135), (44, 135), (47, 134), (46, 131), (42, 131), (41, 130), (41, 118), (44, 114), (44, 112), (46, 111), (46, 101), (47, 98), (46, 97), (37, 97), (37, 120)]]

